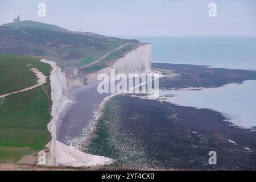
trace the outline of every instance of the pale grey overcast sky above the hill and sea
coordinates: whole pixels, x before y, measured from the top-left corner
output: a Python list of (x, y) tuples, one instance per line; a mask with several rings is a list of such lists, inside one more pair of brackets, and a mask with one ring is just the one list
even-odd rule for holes
[[(38, 16), (40, 2), (46, 17)], [(17, 14), (109, 36), (256, 36), (256, 0), (0, 0), (0, 24)]]

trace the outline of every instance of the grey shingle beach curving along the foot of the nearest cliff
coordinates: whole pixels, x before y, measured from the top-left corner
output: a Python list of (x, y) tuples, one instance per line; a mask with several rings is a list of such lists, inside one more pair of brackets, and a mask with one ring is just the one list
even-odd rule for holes
[(57, 140), (78, 147), (93, 127), (94, 115), (104, 98), (110, 94), (97, 92), (97, 82), (90, 82), (68, 93), (69, 103), (61, 111), (57, 122)]

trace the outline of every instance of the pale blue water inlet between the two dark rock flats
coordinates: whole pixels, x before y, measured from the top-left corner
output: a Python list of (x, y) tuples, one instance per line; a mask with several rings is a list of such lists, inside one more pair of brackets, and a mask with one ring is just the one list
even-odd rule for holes
[(166, 101), (181, 106), (208, 108), (220, 111), (234, 125), (250, 129), (256, 126), (256, 81), (243, 84), (229, 84), (220, 88), (203, 90), (160, 91), (160, 96), (167, 94)]

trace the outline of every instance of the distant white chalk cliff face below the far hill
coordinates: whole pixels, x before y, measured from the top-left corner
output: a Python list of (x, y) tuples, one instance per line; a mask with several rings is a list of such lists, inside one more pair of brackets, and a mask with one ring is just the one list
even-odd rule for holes
[(110, 69), (115, 69), (115, 74), (124, 73), (127, 76), (129, 73), (148, 73), (151, 71), (151, 63), (151, 44), (144, 44), (115, 61), (112, 66), (90, 73), (86, 78), (88, 81), (97, 81), (98, 74), (110, 75)]

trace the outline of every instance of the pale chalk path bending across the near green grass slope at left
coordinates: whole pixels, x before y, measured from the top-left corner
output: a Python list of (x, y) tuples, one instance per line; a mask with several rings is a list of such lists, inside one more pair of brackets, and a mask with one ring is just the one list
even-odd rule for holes
[(5, 98), (6, 96), (10, 96), (11, 94), (15, 94), (15, 93), (31, 90), (31, 89), (34, 89), (34, 88), (36, 88), (36, 87), (46, 83), (46, 76), (44, 76), (42, 72), (40, 72), (36, 68), (31, 68), (31, 71), (34, 72), (36, 74), (36, 76), (38, 77), (38, 83), (37, 84), (35, 84), (33, 86), (30, 86), (30, 87), (28, 87), (26, 89), (22, 89), (22, 90), (16, 91), (16, 92), (11, 92), (11, 93), (3, 94), (3, 95), (0, 96), (0, 98)]

